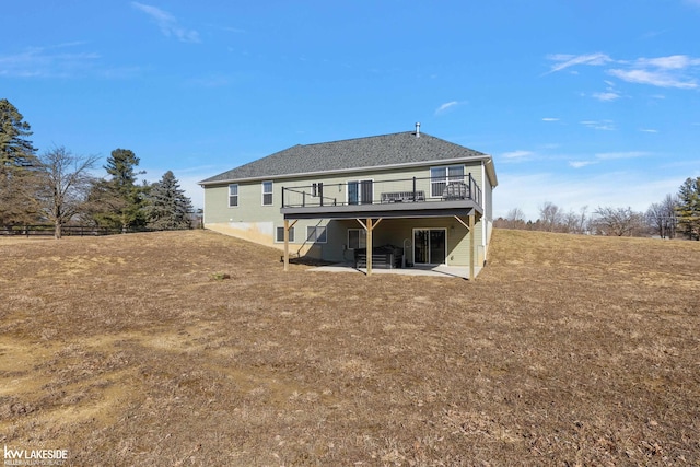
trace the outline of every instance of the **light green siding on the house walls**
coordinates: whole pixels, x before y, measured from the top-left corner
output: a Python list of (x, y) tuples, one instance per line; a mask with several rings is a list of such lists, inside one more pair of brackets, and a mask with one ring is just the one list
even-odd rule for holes
[[(416, 180), (416, 189), (423, 191), (425, 198), (430, 197), (430, 168), (439, 166), (458, 165), (427, 164), (421, 167), (385, 168), (382, 171), (352, 172), (335, 175), (319, 175), (313, 177), (275, 178), (273, 205), (262, 206), (262, 182), (240, 180), (238, 206), (229, 207), (229, 184), (207, 185), (205, 187), (205, 226), (218, 232), (240, 236), (257, 243), (282, 248), (282, 244), (276, 242), (277, 227), (283, 226), (283, 217), (280, 212), (282, 206), (282, 188), (308, 187), (312, 184), (324, 185), (326, 202), (336, 199), (338, 203), (348, 201), (347, 183), (351, 180), (371, 179), (374, 182), (374, 199), (378, 199), (381, 192), (407, 190), (412, 187), (412, 178)], [(485, 171), (481, 161), (470, 162), (465, 165), (465, 177), (469, 174), (482, 190), (482, 203), (485, 205), (486, 226), (481, 221), (475, 226), (475, 245), (477, 261), (485, 259), (488, 223), (491, 222), (491, 186), (488, 178), (485, 179)], [(422, 178), (422, 179), (421, 179)], [(401, 183), (388, 183), (385, 180), (404, 179)], [(291, 196), (289, 191), (285, 196)], [(289, 198), (287, 201), (292, 201)], [(316, 201), (317, 202), (317, 201)], [(465, 223), (468, 219), (462, 218)], [(307, 226), (326, 226), (327, 242), (313, 243), (306, 240)], [(412, 236), (413, 229), (446, 229), (447, 232), (447, 265), (468, 266), (470, 260), (469, 235), (467, 229), (454, 218), (421, 218), (421, 219), (385, 219), (374, 230), (374, 246), (392, 244), (402, 247), (410, 242), (408, 248), (409, 262), (412, 262)], [(295, 238), (290, 245), (290, 252), (296, 255), (308, 255), (329, 261), (343, 261), (352, 259), (352, 252), (347, 248), (348, 229), (361, 229), (355, 220), (329, 221), (329, 220), (300, 220), (294, 225)], [(405, 242), (407, 241), (407, 242)]]

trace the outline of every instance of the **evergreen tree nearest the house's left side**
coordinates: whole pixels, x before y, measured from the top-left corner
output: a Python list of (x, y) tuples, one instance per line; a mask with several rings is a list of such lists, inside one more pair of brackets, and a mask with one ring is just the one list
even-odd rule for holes
[(151, 186), (147, 206), (148, 225), (156, 230), (189, 229), (192, 212), (191, 200), (185, 196), (173, 172), (163, 174), (160, 182)]

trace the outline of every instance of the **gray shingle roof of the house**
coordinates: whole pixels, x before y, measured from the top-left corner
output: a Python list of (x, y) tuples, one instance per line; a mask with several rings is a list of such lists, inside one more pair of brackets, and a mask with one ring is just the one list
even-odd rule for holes
[(200, 184), (463, 157), (489, 156), (423, 132), (420, 133), (420, 138), (417, 138), (415, 132), (406, 131), (316, 144), (298, 144), (214, 175)]

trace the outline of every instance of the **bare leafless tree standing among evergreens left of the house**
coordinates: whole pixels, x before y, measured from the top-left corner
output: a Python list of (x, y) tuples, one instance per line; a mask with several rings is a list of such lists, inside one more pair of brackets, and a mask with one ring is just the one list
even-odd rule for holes
[(42, 212), (54, 224), (54, 236), (61, 237), (61, 227), (79, 213), (94, 178), (90, 175), (96, 155), (74, 155), (63, 147), (39, 156), (43, 185), (38, 202)]

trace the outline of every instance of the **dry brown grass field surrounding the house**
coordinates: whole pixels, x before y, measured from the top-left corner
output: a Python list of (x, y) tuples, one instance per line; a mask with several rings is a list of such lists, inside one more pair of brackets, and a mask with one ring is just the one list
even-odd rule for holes
[(285, 273), (279, 252), (203, 231), (0, 238), (0, 258), (7, 448), (700, 465), (700, 242), (497, 230), (475, 282)]

